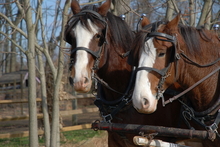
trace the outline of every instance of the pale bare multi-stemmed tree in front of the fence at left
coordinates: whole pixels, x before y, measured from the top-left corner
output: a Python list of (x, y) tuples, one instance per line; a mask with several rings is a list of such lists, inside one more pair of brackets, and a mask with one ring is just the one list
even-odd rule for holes
[[(9, 19), (7, 14), (0, 13), (0, 16), (4, 21), (6, 22), (4, 24), (4, 27), (10, 26), (10, 28), (14, 29), (16, 33), (21, 34), (24, 36), (27, 40), (27, 49), (22, 48), (22, 46), (19, 45), (18, 41), (16, 39), (12, 39), (12, 37), (3, 32), (0, 31), (1, 34), (3, 34), (6, 38), (6, 40), (9, 40), (13, 45), (18, 47), (27, 57), (28, 60), (28, 69), (29, 69), (29, 91), (28, 91), (28, 98), (29, 98), (29, 130), (30, 130), (30, 136), (29, 136), (29, 143), (31, 147), (38, 147), (38, 128), (37, 128), (37, 113), (36, 113), (36, 49), (37, 49), (37, 55), (38, 55), (38, 61), (39, 61), (39, 71), (41, 75), (41, 84), (42, 84), (42, 97), (43, 97), (43, 112), (44, 112), (44, 124), (45, 126), (48, 126), (48, 118), (47, 118), (47, 103), (46, 103), (46, 93), (44, 88), (45, 86), (45, 77), (44, 77), (44, 70), (43, 70), (43, 62), (42, 62), (42, 53), (46, 57), (47, 62), (49, 64), (49, 67), (52, 71), (52, 75), (54, 78), (54, 87), (53, 87), (53, 118), (52, 118), (52, 128), (51, 128), (51, 134), (50, 134), (50, 128), (45, 129), (46, 131), (46, 146), (52, 146), (56, 147), (59, 146), (59, 87), (62, 79), (62, 73), (63, 73), (63, 66), (64, 66), (64, 59), (63, 59), (63, 51), (62, 47), (59, 50), (59, 61), (58, 61), (58, 67), (56, 68), (52, 57), (49, 54), (47, 41), (46, 41), (46, 32), (44, 30), (44, 24), (43, 24), (43, 15), (42, 15), (42, 8), (41, 4), (43, 1), (38, 1), (38, 4), (36, 7), (31, 5), (31, 2), (29, 0), (22, 1), (22, 4), (19, 1), (15, 1), (17, 10), (21, 13), (22, 19), (26, 22), (26, 28), (27, 30), (23, 31), (20, 28), (18, 28), (17, 24), (20, 24), (20, 21), (16, 22), (12, 19)], [(8, 3), (5, 3), (5, 5), (8, 5)], [(11, 3), (11, 5), (14, 5)], [(14, 5), (15, 6), (15, 5)], [(67, 14), (68, 14), (68, 8), (70, 7), (70, 0), (67, 0), (65, 3), (64, 11), (62, 13), (63, 17), (63, 23), (62, 23), (62, 32), (64, 32), (64, 26), (67, 21)], [(34, 10), (34, 11), (32, 11)], [(36, 12), (36, 13), (34, 13)], [(35, 14), (35, 17), (34, 15)], [(21, 17), (20, 17), (21, 18)], [(21, 19), (19, 19), (21, 20)], [(39, 26), (38, 26), (39, 25)], [(38, 42), (37, 38), (37, 29), (40, 29), (42, 39), (43, 39), (43, 46), (40, 42)], [(63, 41), (63, 33), (61, 33), (61, 40), (60, 40), (60, 46), (65, 46), (65, 41)], [(45, 117), (46, 116), (46, 117)], [(48, 137), (48, 134), (51, 136)], [(49, 142), (49, 143), (48, 143)]]

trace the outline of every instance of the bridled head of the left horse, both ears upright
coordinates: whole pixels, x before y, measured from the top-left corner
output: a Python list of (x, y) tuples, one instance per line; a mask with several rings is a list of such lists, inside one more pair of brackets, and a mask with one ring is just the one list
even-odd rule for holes
[(100, 57), (106, 42), (107, 22), (105, 16), (111, 0), (100, 7), (94, 5), (80, 8), (76, 0), (72, 1), (73, 16), (69, 19), (66, 41), (71, 44), (70, 84), (77, 92), (89, 92), (92, 85), (92, 71), (102, 64)]

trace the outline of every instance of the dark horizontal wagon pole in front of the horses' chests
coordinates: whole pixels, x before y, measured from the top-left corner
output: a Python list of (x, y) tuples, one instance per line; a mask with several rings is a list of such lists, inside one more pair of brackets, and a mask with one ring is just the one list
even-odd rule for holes
[(213, 131), (200, 131), (170, 128), (162, 126), (150, 126), (150, 125), (134, 125), (134, 124), (118, 124), (118, 123), (106, 123), (95, 122), (92, 123), (92, 129), (94, 130), (108, 130), (114, 132), (124, 132), (130, 134), (143, 133), (158, 133), (157, 136), (165, 137), (177, 137), (177, 138), (197, 138), (197, 139), (210, 139), (214, 140), (216, 134)]

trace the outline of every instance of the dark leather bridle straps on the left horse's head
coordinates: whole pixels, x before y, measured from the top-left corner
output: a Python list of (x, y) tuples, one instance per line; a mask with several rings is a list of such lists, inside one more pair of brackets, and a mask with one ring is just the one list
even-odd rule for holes
[[(74, 48), (74, 49), (71, 51), (70, 55), (72, 56), (72, 55), (73, 55), (76, 51), (78, 51), (78, 50), (84, 50), (84, 51), (86, 51), (87, 53), (89, 53), (89, 54), (91, 54), (93, 57), (95, 57), (95, 63), (94, 63), (94, 66), (93, 66), (92, 70), (97, 70), (97, 69), (98, 69), (98, 65), (99, 65), (99, 60), (100, 60), (100, 56), (101, 56), (102, 49), (104, 48), (104, 45), (107, 43), (106, 36), (107, 36), (108, 24), (107, 24), (107, 22), (106, 22), (106, 19), (103, 18), (99, 13), (97, 13), (97, 12), (95, 12), (95, 11), (93, 11), (93, 10), (83, 10), (83, 11), (79, 12), (78, 14), (73, 15), (73, 16), (70, 18), (70, 20), (68, 21), (67, 27), (71, 26), (70, 23), (72, 22), (72, 21), (71, 21), (72, 19), (75, 19), (76, 17), (80, 17), (80, 16), (85, 15), (85, 14), (87, 14), (87, 13), (92, 14), (93, 17), (95, 17), (96, 19), (98, 19), (98, 20), (100, 20), (102, 23), (104, 23), (104, 25), (105, 25), (104, 42), (103, 42), (102, 45), (100, 46), (100, 49), (99, 49), (98, 51), (96, 51), (96, 52), (94, 52), (94, 51), (92, 51), (92, 50), (90, 50), (90, 49), (88, 49), (88, 48), (86, 48), (86, 47), (76, 47), (76, 48)], [(70, 64), (69, 64), (69, 70), (70, 70), (70, 71), (71, 71), (71, 69), (72, 69), (73, 64), (74, 64), (74, 59), (72, 58), (72, 59), (70, 60)]]

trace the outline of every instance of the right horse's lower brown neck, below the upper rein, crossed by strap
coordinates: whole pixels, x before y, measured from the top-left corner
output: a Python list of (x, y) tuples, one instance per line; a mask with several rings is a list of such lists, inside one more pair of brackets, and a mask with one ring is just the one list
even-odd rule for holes
[[(217, 68), (216, 66), (198, 68), (194, 65), (184, 64), (179, 79), (179, 83), (184, 89), (189, 88)], [(196, 111), (204, 111), (217, 101), (220, 91), (219, 76), (218, 71), (187, 93), (187, 98), (191, 100)]]

